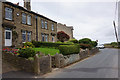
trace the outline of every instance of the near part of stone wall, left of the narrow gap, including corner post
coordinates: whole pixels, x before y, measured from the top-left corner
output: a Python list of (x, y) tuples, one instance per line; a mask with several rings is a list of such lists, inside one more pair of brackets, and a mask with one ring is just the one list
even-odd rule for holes
[(35, 73), (37, 75), (44, 74), (52, 70), (51, 56), (38, 57), (38, 55), (36, 55), (34, 60), (28, 60), (10, 53), (3, 53), (2, 60), (9, 62), (16, 68), (26, 72)]

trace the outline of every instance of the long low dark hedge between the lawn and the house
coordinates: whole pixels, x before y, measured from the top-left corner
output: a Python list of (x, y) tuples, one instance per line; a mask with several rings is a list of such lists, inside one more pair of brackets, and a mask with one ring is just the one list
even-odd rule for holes
[(53, 42), (40, 42), (40, 41), (32, 41), (35, 47), (51, 47), (51, 48), (58, 48), (60, 45), (71, 45), (68, 43), (53, 43)]

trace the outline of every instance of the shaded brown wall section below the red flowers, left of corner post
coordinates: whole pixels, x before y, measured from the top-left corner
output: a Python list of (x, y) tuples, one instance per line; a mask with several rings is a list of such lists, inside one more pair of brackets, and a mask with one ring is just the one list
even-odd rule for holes
[(27, 72), (34, 72), (34, 69), (33, 69), (34, 61), (27, 60), (21, 57), (17, 57), (10, 53), (3, 53), (2, 58), (3, 58), (2, 60), (9, 62), (14, 67), (25, 70)]

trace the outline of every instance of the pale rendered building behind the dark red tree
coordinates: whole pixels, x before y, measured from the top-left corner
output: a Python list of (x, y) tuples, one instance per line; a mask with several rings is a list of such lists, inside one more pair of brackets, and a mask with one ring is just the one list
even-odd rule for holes
[(70, 36), (70, 39), (73, 39), (73, 26), (66, 26), (65, 24), (58, 23), (57, 24), (57, 32), (64, 31), (66, 34)]

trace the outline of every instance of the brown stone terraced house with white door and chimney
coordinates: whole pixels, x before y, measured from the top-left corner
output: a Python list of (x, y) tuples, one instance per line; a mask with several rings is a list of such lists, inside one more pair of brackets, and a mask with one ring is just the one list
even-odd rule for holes
[(57, 22), (31, 11), (30, 1), (24, 7), (2, 2), (2, 47), (20, 47), (24, 42), (57, 41)]

